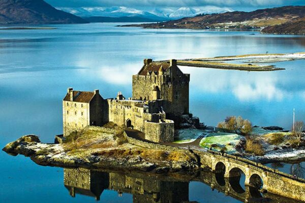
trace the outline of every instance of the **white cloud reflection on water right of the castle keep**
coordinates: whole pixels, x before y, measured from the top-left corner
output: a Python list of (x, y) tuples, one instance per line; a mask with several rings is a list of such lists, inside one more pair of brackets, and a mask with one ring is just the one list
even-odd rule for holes
[[(196, 74), (196, 70), (187, 70), (192, 76), (192, 82), (195, 84), (204, 84), (196, 88), (208, 93), (232, 93), (239, 101), (256, 101), (265, 99), (268, 101), (281, 101), (290, 97), (291, 92), (283, 89), (279, 84), (280, 77), (269, 73), (245, 73), (233, 71), (215, 71), (213, 69), (204, 69), (201, 74)], [(202, 77), (206, 75), (209, 77)], [(305, 98), (305, 91), (304, 91)]]

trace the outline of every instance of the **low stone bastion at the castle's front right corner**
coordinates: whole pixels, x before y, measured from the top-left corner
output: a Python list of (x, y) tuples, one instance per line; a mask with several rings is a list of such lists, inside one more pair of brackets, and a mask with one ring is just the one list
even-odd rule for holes
[(166, 143), (174, 141), (174, 122), (164, 120), (164, 122), (145, 121), (145, 139), (157, 143)]

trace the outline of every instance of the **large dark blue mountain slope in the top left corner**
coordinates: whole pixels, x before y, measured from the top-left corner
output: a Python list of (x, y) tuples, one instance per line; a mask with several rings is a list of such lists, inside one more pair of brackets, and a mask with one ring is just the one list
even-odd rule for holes
[(43, 0), (0, 0), (0, 24), (87, 23)]

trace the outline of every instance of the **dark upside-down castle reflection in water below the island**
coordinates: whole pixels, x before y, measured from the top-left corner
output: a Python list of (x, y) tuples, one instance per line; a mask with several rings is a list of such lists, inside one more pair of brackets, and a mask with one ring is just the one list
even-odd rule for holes
[(185, 202), (189, 198), (188, 182), (160, 181), (145, 175), (128, 176), (83, 168), (65, 169), (64, 184), (73, 197), (83, 194), (97, 200), (106, 189), (117, 191), (119, 196), (131, 193), (133, 202)]

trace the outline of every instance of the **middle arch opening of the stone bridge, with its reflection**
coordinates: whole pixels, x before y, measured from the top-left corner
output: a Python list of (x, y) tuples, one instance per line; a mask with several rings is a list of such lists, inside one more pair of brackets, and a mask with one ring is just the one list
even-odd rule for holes
[[(239, 193), (245, 193), (245, 173), (238, 167), (234, 167), (229, 171), (229, 184), (231, 188)], [(241, 183), (241, 184), (240, 184)]]

